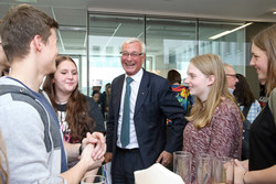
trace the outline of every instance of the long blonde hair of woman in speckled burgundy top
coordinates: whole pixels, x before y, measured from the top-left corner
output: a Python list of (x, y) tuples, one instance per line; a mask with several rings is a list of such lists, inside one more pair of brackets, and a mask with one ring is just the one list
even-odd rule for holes
[(206, 101), (201, 101), (195, 97), (195, 104), (187, 117), (188, 121), (194, 121), (194, 126), (201, 129), (211, 122), (215, 108), (223, 99), (230, 99), (234, 102), (235, 99), (227, 89), (226, 75), (220, 56), (214, 54), (199, 55), (193, 57), (190, 63), (205, 76), (213, 75), (215, 77)]

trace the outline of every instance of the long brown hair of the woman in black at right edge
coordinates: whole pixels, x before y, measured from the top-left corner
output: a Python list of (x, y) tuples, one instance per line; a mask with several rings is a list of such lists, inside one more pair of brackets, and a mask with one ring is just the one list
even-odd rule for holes
[(268, 59), (266, 77), (266, 96), (276, 87), (276, 24), (256, 34), (252, 43), (266, 53)]

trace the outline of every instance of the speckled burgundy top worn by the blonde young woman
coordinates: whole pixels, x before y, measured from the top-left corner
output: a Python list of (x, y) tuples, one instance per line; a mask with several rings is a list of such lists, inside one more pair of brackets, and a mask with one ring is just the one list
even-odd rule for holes
[(209, 126), (197, 129), (193, 121), (183, 131), (183, 151), (192, 153), (192, 181), (194, 156), (208, 153), (214, 156), (241, 158), (243, 121), (238, 107), (230, 99), (223, 100), (214, 110)]

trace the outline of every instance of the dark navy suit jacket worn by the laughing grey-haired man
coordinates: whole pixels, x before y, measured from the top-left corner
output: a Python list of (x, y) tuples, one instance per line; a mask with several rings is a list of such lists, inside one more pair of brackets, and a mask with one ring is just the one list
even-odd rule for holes
[[(120, 99), (125, 74), (112, 83), (112, 95), (107, 120), (107, 152), (116, 155), (116, 142)], [(134, 123), (144, 166), (156, 162), (159, 154), (166, 150), (172, 153), (181, 150), (183, 128), (187, 125), (184, 110), (171, 90), (166, 78), (144, 71), (135, 106)], [(167, 142), (166, 118), (172, 120), (170, 139)]]

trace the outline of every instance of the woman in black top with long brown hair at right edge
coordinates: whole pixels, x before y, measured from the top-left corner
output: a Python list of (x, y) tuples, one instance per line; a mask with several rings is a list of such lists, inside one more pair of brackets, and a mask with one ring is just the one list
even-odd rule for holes
[(276, 183), (276, 25), (259, 32), (252, 42), (251, 66), (266, 87), (268, 105), (251, 126), (250, 160), (235, 160), (236, 184)]

